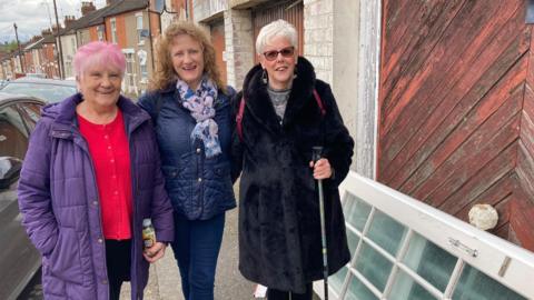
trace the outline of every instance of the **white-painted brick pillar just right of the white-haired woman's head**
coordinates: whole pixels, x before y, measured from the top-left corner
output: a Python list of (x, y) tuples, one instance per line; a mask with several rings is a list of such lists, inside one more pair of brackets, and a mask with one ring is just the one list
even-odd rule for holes
[(333, 83), (334, 0), (304, 0), (304, 56), (318, 79)]

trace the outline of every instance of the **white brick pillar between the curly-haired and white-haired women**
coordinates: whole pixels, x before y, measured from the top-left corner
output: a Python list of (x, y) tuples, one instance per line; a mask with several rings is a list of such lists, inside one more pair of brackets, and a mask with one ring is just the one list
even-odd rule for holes
[(243, 80), (254, 66), (253, 21), (250, 10), (228, 9), (225, 11), (224, 58), (227, 66), (228, 84), (241, 90)]

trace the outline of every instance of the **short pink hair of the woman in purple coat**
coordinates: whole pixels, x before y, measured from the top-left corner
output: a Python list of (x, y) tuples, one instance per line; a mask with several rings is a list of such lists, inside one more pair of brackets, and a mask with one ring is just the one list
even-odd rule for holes
[(78, 49), (75, 54), (75, 73), (81, 77), (89, 66), (109, 66), (119, 69), (123, 74), (126, 59), (117, 44), (93, 41)]

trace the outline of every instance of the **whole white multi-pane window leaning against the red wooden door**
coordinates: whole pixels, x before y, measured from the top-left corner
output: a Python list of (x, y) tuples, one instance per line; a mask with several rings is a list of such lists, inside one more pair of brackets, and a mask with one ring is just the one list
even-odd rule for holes
[[(357, 174), (342, 186), (352, 260), (329, 277), (334, 299), (526, 300), (532, 294), (522, 280), (534, 273), (534, 256), (526, 250)], [(517, 269), (506, 270), (506, 259)], [(497, 274), (500, 269), (508, 273)], [(323, 294), (320, 283), (315, 289)]]

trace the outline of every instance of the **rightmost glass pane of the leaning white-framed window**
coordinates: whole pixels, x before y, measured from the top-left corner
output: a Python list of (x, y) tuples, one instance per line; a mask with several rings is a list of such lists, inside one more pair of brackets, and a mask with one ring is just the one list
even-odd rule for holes
[(465, 266), (453, 300), (526, 300), (481, 271)]

